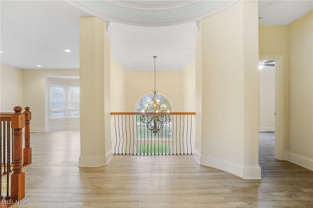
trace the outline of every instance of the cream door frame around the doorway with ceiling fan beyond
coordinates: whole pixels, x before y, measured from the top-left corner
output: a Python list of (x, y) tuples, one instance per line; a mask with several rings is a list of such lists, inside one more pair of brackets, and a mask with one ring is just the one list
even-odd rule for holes
[(259, 60), (275, 61), (275, 159), (283, 161), (285, 150), (285, 72), (283, 54), (259, 54)]

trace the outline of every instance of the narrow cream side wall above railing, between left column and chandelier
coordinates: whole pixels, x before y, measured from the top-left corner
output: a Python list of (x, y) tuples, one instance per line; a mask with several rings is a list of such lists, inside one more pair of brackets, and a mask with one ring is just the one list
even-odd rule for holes
[(111, 56), (111, 111), (125, 112), (126, 72)]

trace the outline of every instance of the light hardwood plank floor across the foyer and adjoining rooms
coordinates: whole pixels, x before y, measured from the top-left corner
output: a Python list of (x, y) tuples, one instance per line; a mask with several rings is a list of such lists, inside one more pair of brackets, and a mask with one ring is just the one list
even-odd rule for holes
[(32, 133), (27, 205), (11, 208), (313, 208), (313, 171), (273, 159), (260, 135), (263, 180), (242, 180), (193, 156), (114, 156), (79, 168), (79, 132)]

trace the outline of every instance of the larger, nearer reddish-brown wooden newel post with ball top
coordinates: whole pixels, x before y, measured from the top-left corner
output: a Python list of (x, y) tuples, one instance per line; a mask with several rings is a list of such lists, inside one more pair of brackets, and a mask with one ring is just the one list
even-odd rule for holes
[(22, 128), (25, 126), (25, 116), (22, 107), (14, 107), (11, 116), (13, 129), (13, 174), (11, 175), (11, 199), (20, 200), (25, 197), (25, 173), (22, 171)]

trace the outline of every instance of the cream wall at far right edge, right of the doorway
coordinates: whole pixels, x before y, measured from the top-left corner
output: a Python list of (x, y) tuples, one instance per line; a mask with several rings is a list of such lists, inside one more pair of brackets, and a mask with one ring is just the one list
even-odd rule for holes
[(288, 25), (288, 160), (313, 170), (313, 11)]

